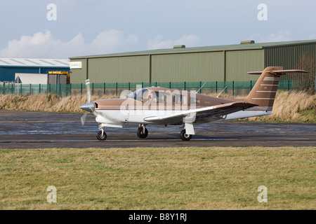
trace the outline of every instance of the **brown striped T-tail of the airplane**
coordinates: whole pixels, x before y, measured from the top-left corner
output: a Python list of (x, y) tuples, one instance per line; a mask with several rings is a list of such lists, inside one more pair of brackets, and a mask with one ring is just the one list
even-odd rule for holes
[(249, 74), (261, 74), (256, 85), (251, 90), (245, 101), (251, 104), (257, 104), (253, 109), (266, 111), (267, 115), (272, 113), (272, 106), (275, 102), (275, 94), (279, 85), (280, 76), (286, 73), (308, 73), (303, 70), (283, 70), (283, 67), (269, 66), (263, 71), (251, 71)]

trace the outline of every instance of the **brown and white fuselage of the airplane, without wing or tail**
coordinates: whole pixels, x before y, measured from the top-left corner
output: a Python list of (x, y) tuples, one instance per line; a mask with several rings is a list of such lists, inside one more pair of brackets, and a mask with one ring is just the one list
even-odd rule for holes
[[(202, 109), (205, 107), (218, 106), (235, 102), (232, 99), (211, 97), (196, 92), (184, 90), (172, 90), (163, 87), (147, 87), (136, 92), (127, 94), (122, 99), (101, 99), (93, 102), (98, 123), (106, 124), (107, 127), (121, 127), (124, 123), (143, 123), (161, 125), (181, 125), (179, 120), (171, 120), (168, 124), (165, 121), (151, 122), (146, 118), (171, 116), (183, 111)], [(267, 115), (267, 111), (239, 111), (226, 116), (199, 117), (194, 123), (208, 123), (214, 120), (229, 120), (246, 118), (249, 116)]]

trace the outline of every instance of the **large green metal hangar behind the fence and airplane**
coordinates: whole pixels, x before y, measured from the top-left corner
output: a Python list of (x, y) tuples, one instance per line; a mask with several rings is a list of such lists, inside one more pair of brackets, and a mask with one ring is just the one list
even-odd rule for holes
[[(145, 50), (70, 57), (71, 83), (154, 83), (256, 80), (247, 71), (266, 66), (293, 69), (300, 55), (316, 58), (316, 40)], [(284, 77), (283, 79), (291, 79)]]

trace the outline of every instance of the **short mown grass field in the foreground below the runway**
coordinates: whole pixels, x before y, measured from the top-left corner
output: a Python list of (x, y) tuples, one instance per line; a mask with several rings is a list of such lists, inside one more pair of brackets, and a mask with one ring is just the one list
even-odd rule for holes
[[(316, 147), (0, 150), (0, 209), (315, 209)], [(48, 186), (57, 203), (48, 203)], [(259, 203), (259, 186), (268, 202)]]

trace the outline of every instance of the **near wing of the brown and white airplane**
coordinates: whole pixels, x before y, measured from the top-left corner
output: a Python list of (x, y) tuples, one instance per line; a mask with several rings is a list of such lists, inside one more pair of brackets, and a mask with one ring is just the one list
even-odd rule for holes
[(170, 124), (179, 125), (185, 122), (185, 119), (194, 119), (191, 122), (209, 122), (209, 120), (220, 120), (220, 116), (225, 116), (230, 113), (249, 109), (258, 106), (257, 104), (249, 104), (247, 102), (232, 102), (228, 104), (220, 104), (216, 106), (207, 106), (200, 109), (191, 109), (188, 111), (181, 111), (166, 116), (153, 116), (144, 118), (145, 121), (154, 124)]

